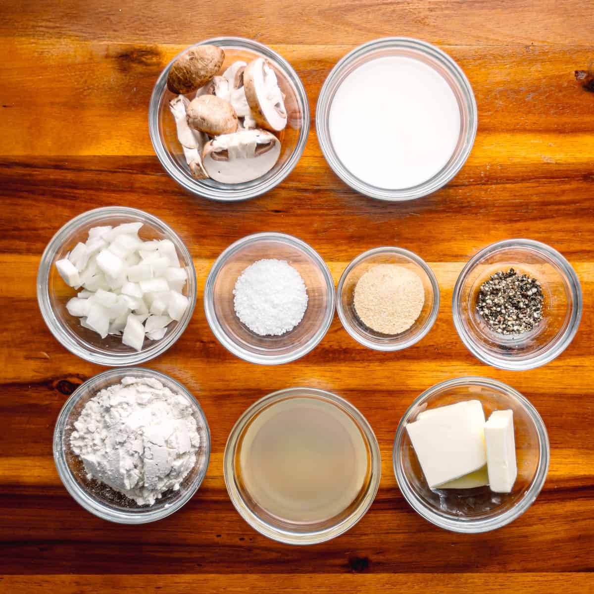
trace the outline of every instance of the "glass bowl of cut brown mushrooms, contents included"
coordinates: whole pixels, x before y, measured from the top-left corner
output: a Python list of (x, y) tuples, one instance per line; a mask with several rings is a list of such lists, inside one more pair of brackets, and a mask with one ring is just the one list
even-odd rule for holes
[(149, 128), (169, 175), (193, 194), (247, 200), (280, 184), (301, 157), (309, 106), (290, 64), (261, 43), (217, 37), (163, 70)]

